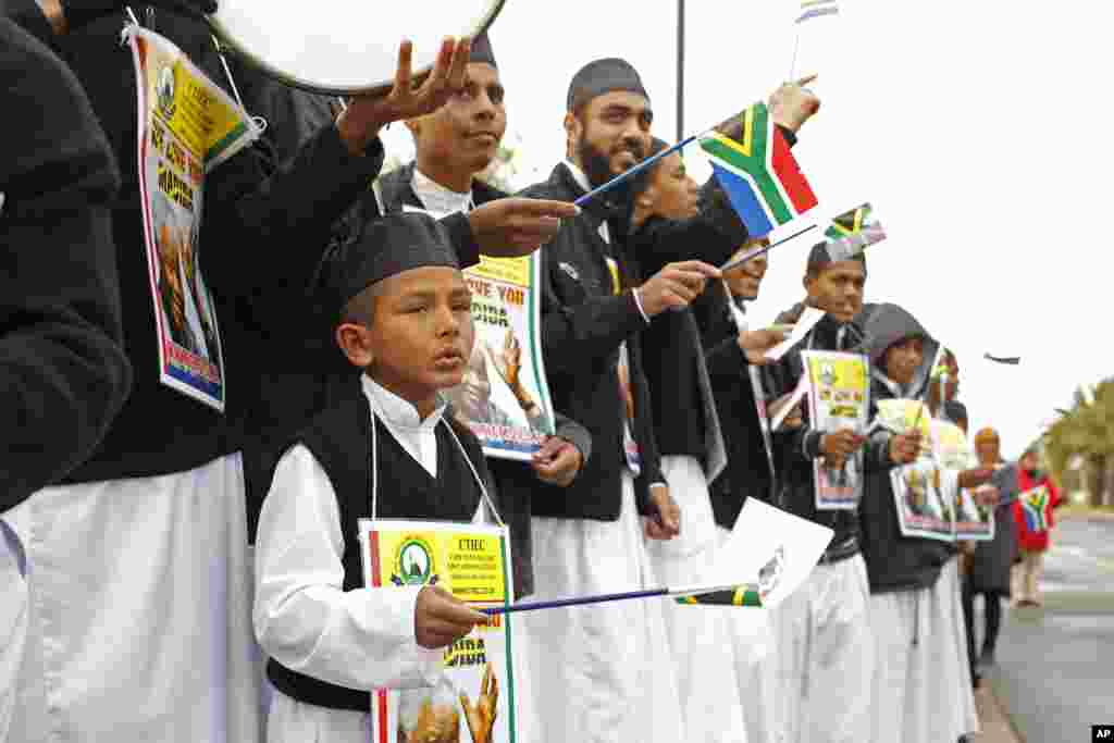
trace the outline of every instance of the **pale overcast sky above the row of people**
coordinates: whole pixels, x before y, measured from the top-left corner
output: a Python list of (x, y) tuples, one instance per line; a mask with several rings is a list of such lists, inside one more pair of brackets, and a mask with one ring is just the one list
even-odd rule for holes
[[(686, 7), (684, 120), (695, 133), (788, 77), (799, 4)], [(1114, 374), (1103, 7), (842, 0), (839, 17), (802, 26), (797, 71), (820, 74), (822, 99), (795, 149), (820, 198), (809, 216), (874, 204), (890, 237), (871, 248), (867, 301), (902, 304), (956, 351), (971, 424), (997, 427), (1007, 457), (1076, 384)], [(509, 131), (539, 177), (564, 155), (568, 81), (598, 57), (637, 67), (655, 134), (675, 139), (675, 22), (674, 0), (507, 1), (491, 39)], [(687, 159), (707, 176), (698, 149)], [(772, 256), (758, 320), (801, 297), (809, 245)], [(985, 352), (1023, 363), (990, 364)]]

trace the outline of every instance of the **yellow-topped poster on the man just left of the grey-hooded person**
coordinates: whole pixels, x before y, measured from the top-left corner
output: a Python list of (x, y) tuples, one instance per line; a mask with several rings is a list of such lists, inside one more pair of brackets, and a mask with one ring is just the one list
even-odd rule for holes
[[(812, 428), (831, 433), (867, 431), (870, 384), (867, 358), (839, 351), (802, 351), (809, 378)], [(841, 462), (813, 461), (818, 510), (854, 510), (862, 493), (862, 450)]]

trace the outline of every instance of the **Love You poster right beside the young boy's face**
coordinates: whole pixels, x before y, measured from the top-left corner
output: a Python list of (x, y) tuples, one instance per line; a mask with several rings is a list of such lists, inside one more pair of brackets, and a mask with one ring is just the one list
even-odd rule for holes
[(463, 382), (448, 395), (483, 453), (529, 460), (555, 431), (541, 361), (540, 262), (480, 256), (466, 270), (476, 342)]

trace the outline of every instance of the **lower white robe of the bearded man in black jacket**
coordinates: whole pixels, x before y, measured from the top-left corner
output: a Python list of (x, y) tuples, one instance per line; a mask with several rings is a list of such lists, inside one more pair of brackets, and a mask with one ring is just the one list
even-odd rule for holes
[[(645, 556), (634, 482), (623, 475), (617, 521), (535, 518), (535, 599), (637, 589)], [(537, 671), (531, 743), (677, 743), (685, 734), (662, 602), (522, 615)]]

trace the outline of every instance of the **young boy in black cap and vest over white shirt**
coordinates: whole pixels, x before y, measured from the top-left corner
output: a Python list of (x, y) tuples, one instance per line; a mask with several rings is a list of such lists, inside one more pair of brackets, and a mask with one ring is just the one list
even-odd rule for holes
[(441, 395), (472, 345), (449, 233), (424, 214), (371, 223), (331, 283), (336, 342), (363, 373), (295, 438), (260, 517), (254, 623), (277, 690), (273, 743), (365, 741), (367, 690), (432, 685), (438, 648), (485, 620), (433, 586), (365, 589), (355, 539), (361, 518), (476, 520), (490, 490), (479, 442)]

